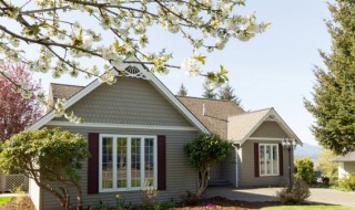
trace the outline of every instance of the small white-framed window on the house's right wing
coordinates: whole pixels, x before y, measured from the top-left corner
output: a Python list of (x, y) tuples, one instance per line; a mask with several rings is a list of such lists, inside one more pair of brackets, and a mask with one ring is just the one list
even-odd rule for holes
[(278, 145), (261, 144), (258, 146), (260, 175), (278, 176)]

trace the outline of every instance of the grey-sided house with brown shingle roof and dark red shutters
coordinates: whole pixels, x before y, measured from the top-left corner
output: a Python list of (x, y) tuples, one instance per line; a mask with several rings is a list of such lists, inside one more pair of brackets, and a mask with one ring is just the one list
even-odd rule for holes
[[(115, 204), (116, 193), (138, 203), (146, 179), (160, 190), (161, 201), (196, 191), (197, 172), (183, 147), (199, 132), (217, 133), (234, 143), (232, 156), (213, 168), (211, 181), (234, 187), (287, 183), (288, 151), (281, 143), (302, 143), (273, 108), (245, 112), (232, 102), (176, 97), (144, 66), (122, 69), (124, 76), (113, 85), (98, 80), (85, 87), (51, 84), (50, 104), (68, 98), (65, 108), (84, 123), (71, 124), (49, 111), (28, 128), (61, 127), (88, 138), (92, 157), (80, 171), (84, 206), (100, 200)], [(29, 195), (38, 209), (59, 208), (33, 180)]]

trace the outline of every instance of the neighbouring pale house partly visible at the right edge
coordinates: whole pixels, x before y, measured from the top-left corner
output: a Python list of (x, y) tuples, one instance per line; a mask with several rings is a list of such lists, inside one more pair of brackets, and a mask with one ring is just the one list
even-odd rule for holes
[(348, 153), (344, 156), (337, 156), (333, 161), (337, 162), (339, 179), (348, 176), (351, 172), (355, 172), (355, 151)]

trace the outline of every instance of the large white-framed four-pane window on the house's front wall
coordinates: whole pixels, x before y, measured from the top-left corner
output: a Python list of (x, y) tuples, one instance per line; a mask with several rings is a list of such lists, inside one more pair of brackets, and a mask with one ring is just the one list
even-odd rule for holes
[(100, 135), (100, 191), (156, 187), (156, 137)]

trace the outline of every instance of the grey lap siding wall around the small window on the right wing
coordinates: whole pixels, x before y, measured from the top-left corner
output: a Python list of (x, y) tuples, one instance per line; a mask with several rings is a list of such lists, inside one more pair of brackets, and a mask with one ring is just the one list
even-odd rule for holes
[(242, 145), (242, 158), (240, 165), (240, 187), (258, 186), (285, 186), (288, 181), (288, 151), (283, 150), (283, 176), (255, 177), (254, 176), (254, 143), (280, 144), (271, 140), (246, 140)]

